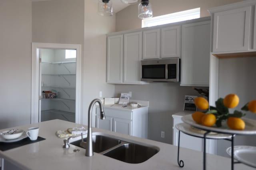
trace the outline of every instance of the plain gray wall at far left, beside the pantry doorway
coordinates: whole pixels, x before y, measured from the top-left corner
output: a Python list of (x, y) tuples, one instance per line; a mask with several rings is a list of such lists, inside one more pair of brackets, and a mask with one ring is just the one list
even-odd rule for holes
[(0, 129), (30, 123), (31, 0), (0, 0)]

